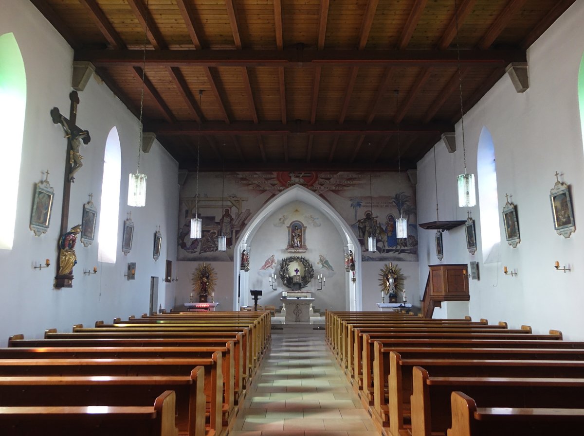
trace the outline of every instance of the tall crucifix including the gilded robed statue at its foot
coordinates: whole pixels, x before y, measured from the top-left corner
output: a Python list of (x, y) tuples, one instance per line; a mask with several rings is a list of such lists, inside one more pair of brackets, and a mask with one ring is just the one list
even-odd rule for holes
[(65, 154), (65, 183), (63, 186), (63, 205), (61, 208), (61, 231), (58, 241), (59, 257), (57, 261), (57, 276), (55, 276), (55, 288), (73, 287), (73, 266), (77, 263), (75, 255), (75, 242), (81, 226), (77, 225), (69, 228), (69, 199), (71, 196), (71, 183), (75, 180), (75, 173), (83, 166), (81, 163), (81, 141), (88, 144), (91, 141), (89, 132), (81, 129), (77, 122), (77, 105), (79, 96), (77, 91), (69, 94), (71, 106), (69, 108), (69, 119), (61, 115), (59, 108), (51, 109), (51, 119), (54, 124), (60, 124), (67, 138), (67, 154)]

